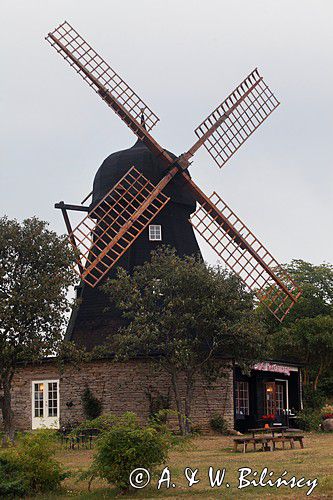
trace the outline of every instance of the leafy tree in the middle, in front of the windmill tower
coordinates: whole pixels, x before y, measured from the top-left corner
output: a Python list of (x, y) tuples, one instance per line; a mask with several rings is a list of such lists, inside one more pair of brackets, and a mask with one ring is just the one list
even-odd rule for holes
[(223, 355), (249, 366), (263, 353), (253, 297), (220, 267), (162, 247), (132, 276), (120, 269), (105, 289), (129, 320), (112, 341), (118, 359), (144, 355), (170, 375), (182, 434), (190, 431), (198, 374), (221, 374)]

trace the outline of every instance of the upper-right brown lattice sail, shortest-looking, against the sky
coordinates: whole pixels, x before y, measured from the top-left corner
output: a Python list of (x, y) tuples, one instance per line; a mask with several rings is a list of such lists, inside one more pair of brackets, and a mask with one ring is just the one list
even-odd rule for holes
[(195, 134), (199, 139), (202, 138), (222, 120), (204, 142), (209, 154), (222, 168), (279, 104), (255, 69), (195, 129)]

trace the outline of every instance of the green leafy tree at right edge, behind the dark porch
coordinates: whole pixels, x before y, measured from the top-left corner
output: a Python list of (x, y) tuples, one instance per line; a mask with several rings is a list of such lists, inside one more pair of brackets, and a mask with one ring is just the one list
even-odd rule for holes
[(320, 379), (333, 368), (333, 267), (293, 260), (285, 266), (303, 294), (282, 325), (267, 323), (275, 331), (271, 341), (276, 356), (305, 363), (305, 388), (317, 391)]

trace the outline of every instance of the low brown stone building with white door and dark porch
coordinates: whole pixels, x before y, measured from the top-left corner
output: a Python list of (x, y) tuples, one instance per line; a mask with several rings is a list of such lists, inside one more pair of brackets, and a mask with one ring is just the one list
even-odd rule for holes
[[(17, 429), (68, 426), (84, 419), (82, 394), (89, 387), (100, 399), (104, 413), (135, 412), (145, 421), (150, 399), (170, 397), (175, 409), (171, 382), (165, 373), (144, 360), (114, 363), (90, 362), (59, 371), (54, 360), (20, 368), (13, 381), (14, 424)], [(225, 376), (207, 385), (199, 380), (193, 397), (194, 428), (209, 430), (215, 414), (230, 428), (244, 431), (262, 423), (262, 416), (274, 414), (275, 422), (292, 423), (301, 404), (299, 367), (263, 362), (250, 376), (226, 360)], [(176, 419), (174, 419), (176, 422)]]

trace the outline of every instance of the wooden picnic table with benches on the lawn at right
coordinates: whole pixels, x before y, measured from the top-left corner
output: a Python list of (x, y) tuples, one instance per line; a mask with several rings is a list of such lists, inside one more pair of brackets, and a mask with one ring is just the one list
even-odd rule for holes
[[(276, 444), (281, 443), (282, 449), (285, 449), (285, 443), (290, 444), (290, 448), (295, 448), (295, 441), (298, 441), (301, 448), (304, 448), (304, 436), (299, 434), (299, 429), (292, 429), (284, 426), (260, 427), (249, 429), (252, 437), (242, 437), (234, 439), (234, 451), (237, 451), (238, 445), (243, 446), (243, 453), (246, 453), (248, 444), (253, 445), (253, 451), (256, 451), (257, 445), (261, 446), (262, 451), (275, 451)], [(255, 434), (262, 434), (260, 437)], [(278, 434), (276, 436), (276, 434)]]

